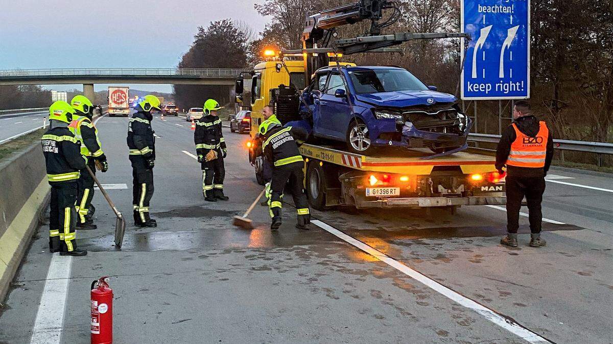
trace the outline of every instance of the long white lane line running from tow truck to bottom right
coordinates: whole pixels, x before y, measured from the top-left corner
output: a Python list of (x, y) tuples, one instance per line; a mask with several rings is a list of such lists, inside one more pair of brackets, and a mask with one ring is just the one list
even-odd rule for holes
[(479, 315), (483, 316), (485, 319), (491, 321), (494, 324), (497, 324), (498, 326), (502, 327), (503, 329), (506, 329), (507, 331), (511, 332), (512, 334), (515, 334), (517, 336), (519, 336), (520, 338), (526, 340), (527, 342), (530, 343), (551, 343), (549, 342), (549, 340), (547, 340), (546, 338), (541, 337), (540, 335), (536, 334), (535, 332), (530, 331), (529, 329), (525, 328), (524, 326), (521, 326), (520, 324), (516, 323), (514, 320), (512, 320), (511, 318), (507, 318), (506, 316), (503, 316), (497, 312), (495, 312), (494, 310), (491, 310), (490, 308), (485, 307), (482, 304), (479, 304), (478, 302), (469, 299), (466, 296), (463, 296), (462, 294), (458, 293), (457, 291), (451, 290), (449, 288), (447, 288), (446, 286), (442, 285), (441, 283), (436, 282), (435, 280), (432, 280), (428, 277), (426, 277), (425, 275), (421, 274), (421, 272), (415, 271), (413, 269), (411, 269), (410, 267), (406, 266), (403, 263), (400, 263), (400, 261), (394, 260), (394, 258), (391, 258), (390, 256), (386, 255), (385, 253), (373, 249), (373, 247), (370, 247), (369, 245), (365, 244), (364, 242), (361, 242), (357, 239), (355, 239), (352, 236), (349, 236), (339, 230), (337, 230), (336, 228), (333, 228), (332, 226), (328, 225), (327, 223), (321, 222), (319, 220), (313, 220), (311, 221), (311, 223), (313, 223), (314, 225), (319, 226), (320, 228), (322, 228), (323, 230), (328, 231), (331, 234), (334, 234), (335, 236), (339, 237), (340, 239), (343, 239), (344, 241), (348, 242), (351, 245), (354, 245), (355, 247), (357, 247), (358, 249), (368, 253), (369, 255), (375, 257), (376, 259), (382, 261), (383, 263), (386, 263), (387, 265), (394, 267), (394, 269), (397, 269), (400, 272), (403, 272), (403, 274), (411, 277), (414, 280), (417, 280), (418, 282), (424, 284), (425, 286), (427, 286), (428, 288), (436, 291), (437, 293), (447, 297), (448, 299), (450, 299), (451, 301), (456, 302), (457, 304), (462, 305), (463, 307), (469, 308), (470, 310), (473, 310), (474, 312), (478, 313)]

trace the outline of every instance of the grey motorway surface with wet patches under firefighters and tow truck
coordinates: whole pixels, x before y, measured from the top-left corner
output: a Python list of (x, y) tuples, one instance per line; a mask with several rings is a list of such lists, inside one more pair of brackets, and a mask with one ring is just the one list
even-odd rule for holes
[(286, 197), (278, 233), (263, 206), (246, 231), (231, 221), (261, 191), (248, 136), (225, 129), (230, 201), (207, 203), (189, 123), (158, 116), (158, 228), (138, 229), (127, 122), (98, 122), (110, 165), (98, 176), (129, 219), (123, 249), (113, 247), (115, 217), (100, 192), (99, 229), (77, 232), (87, 256), (51, 255), (41, 226), (0, 316), (0, 342), (88, 342), (89, 288), (103, 275), (115, 293), (116, 343), (613, 341), (611, 176), (550, 171), (539, 249), (527, 246), (526, 217), (520, 246), (501, 246), (504, 209), (487, 206), (430, 217), (313, 211), (316, 225), (303, 231)]

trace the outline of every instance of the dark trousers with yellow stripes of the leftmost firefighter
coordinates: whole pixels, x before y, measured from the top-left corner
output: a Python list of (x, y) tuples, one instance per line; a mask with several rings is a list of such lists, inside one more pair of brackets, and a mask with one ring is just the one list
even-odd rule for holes
[(62, 252), (77, 249), (75, 242), (77, 226), (78, 181), (51, 184), (49, 211), (49, 249)]

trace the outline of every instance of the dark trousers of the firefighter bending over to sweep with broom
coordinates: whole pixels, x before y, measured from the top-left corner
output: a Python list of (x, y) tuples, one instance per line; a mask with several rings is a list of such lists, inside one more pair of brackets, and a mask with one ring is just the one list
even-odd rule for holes
[(298, 223), (300, 225), (308, 225), (310, 223), (311, 215), (308, 209), (307, 195), (302, 187), (304, 180), (302, 166), (303, 163), (295, 162), (273, 168), (272, 181), (270, 182), (270, 201), (268, 203), (270, 206), (270, 217), (273, 219), (281, 218), (281, 197), (289, 181), (287, 189), (289, 189), (288, 191), (292, 193), (292, 198), (294, 198), (294, 204), (298, 212)]

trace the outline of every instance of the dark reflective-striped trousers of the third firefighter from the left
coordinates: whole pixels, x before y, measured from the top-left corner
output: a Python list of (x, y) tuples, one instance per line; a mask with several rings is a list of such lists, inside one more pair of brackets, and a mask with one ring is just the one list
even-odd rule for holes
[(151, 219), (149, 202), (153, 197), (153, 170), (149, 170), (145, 158), (130, 155), (132, 163), (132, 207), (134, 222), (142, 223)]

